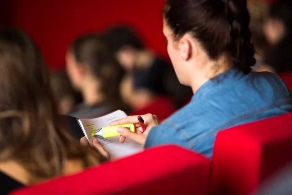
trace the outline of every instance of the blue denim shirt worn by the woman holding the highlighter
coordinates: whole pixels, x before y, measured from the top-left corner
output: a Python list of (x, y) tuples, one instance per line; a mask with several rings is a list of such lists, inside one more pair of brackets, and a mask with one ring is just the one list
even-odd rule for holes
[(232, 68), (204, 83), (189, 104), (153, 127), (145, 148), (173, 143), (212, 157), (219, 131), (292, 112), (291, 97), (272, 73), (246, 75)]

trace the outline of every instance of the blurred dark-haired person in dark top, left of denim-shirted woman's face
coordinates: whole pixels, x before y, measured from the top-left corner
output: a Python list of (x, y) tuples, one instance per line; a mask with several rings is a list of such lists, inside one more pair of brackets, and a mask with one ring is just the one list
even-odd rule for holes
[(105, 36), (112, 55), (127, 72), (121, 93), (134, 113), (147, 110), (165, 118), (191, 97), (191, 89), (180, 84), (171, 65), (146, 48), (130, 27), (110, 27)]

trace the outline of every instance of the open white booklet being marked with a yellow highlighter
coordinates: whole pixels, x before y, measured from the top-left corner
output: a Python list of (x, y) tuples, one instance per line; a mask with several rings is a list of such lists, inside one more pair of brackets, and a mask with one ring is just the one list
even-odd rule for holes
[(124, 143), (120, 143), (119, 136), (105, 139), (101, 137), (92, 137), (91, 128), (98, 130), (103, 127), (108, 127), (110, 126), (110, 122), (125, 117), (127, 117), (125, 112), (117, 110), (101, 117), (77, 118), (77, 121), (91, 146), (93, 139), (97, 138), (103, 148), (110, 154), (111, 159), (116, 159), (143, 151), (143, 147), (131, 139), (126, 139)]

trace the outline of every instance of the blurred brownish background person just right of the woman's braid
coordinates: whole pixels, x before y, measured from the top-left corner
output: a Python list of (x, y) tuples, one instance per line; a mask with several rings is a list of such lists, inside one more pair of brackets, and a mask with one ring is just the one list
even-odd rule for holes
[(255, 46), (256, 65), (253, 67), (254, 71), (262, 65), (262, 60), (265, 51), (268, 48), (268, 41), (264, 34), (264, 21), (268, 16), (269, 3), (263, 0), (249, 0), (247, 8), (250, 13), (250, 29), (252, 33), (251, 42)]

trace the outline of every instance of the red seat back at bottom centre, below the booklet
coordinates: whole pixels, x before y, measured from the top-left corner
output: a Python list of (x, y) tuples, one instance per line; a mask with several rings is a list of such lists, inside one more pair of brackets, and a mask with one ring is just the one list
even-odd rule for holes
[(13, 195), (207, 195), (209, 159), (163, 146)]

